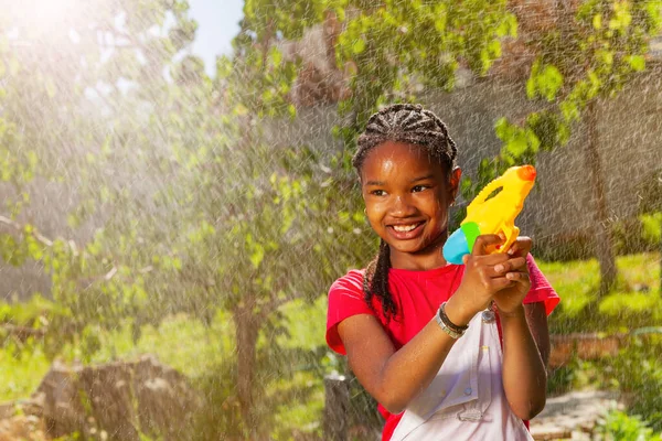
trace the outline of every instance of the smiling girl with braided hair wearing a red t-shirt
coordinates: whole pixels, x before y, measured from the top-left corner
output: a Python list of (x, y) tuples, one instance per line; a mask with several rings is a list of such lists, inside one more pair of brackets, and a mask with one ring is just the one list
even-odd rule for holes
[(327, 342), (380, 402), (383, 440), (532, 440), (545, 406), (547, 314), (559, 299), (520, 237), (480, 236), (449, 265), (461, 171), (446, 126), (417, 105), (373, 115), (353, 164), (378, 256), (329, 291)]

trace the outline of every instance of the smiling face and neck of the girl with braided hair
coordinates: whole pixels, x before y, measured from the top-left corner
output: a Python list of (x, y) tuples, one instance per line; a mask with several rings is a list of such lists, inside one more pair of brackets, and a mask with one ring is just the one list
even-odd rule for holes
[(391, 248), (394, 268), (444, 263), (439, 248), (460, 175), (456, 169), (449, 182), (444, 166), (419, 146), (387, 141), (367, 153), (361, 168), (363, 200), (370, 225)]

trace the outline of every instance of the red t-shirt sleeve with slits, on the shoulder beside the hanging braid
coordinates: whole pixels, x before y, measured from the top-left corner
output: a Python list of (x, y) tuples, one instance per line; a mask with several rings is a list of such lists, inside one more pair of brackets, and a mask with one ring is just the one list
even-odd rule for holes
[(333, 282), (329, 289), (327, 344), (341, 355), (345, 355), (346, 352), (338, 335), (338, 324), (357, 314), (375, 315), (363, 298), (363, 271), (352, 270)]

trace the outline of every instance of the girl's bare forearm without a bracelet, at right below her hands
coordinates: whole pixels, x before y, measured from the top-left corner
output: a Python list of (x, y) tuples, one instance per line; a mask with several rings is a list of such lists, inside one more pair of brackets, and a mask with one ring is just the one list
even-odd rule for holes
[(547, 373), (532, 336), (524, 306), (500, 314), (503, 329), (503, 388), (508, 401), (528, 420), (545, 407)]

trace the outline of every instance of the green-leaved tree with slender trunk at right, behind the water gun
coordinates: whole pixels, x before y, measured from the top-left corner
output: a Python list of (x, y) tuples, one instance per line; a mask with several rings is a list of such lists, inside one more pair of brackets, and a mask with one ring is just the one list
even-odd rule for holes
[(547, 29), (531, 32), (525, 40), (535, 54), (526, 93), (546, 105), (521, 125), (506, 119), (496, 123), (504, 143), (500, 162), (508, 165), (566, 144), (577, 122), (584, 121), (601, 273), (599, 294), (613, 287), (617, 268), (599, 159), (598, 105), (645, 69), (649, 41), (662, 30), (661, 11), (659, 0), (558, 3), (556, 10), (547, 11)]

